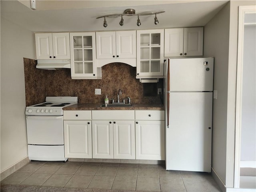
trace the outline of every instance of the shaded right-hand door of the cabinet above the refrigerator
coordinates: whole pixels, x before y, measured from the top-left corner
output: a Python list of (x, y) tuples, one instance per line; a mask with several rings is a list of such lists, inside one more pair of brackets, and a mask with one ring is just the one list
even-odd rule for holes
[(202, 56), (203, 37), (203, 27), (184, 28), (184, 56)]

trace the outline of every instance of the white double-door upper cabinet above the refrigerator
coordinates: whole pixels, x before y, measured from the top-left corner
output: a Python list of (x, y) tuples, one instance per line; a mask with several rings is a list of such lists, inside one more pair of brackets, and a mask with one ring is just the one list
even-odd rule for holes
[(204, 28), (172, 28), (164, 30), (164, 57), (203, 55)]

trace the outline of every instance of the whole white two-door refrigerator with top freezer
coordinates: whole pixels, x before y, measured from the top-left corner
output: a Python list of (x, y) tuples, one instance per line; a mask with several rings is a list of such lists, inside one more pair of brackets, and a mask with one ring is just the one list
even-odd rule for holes
[(166, 170), (211, 172), (214, 58), (164, 63)]

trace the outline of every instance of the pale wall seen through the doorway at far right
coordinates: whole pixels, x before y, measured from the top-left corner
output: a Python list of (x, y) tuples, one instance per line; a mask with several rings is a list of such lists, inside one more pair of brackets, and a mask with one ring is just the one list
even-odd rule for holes
[[(254, 14), (255, 16), (255, 14)], [(254, 43), (253, 43), (254, 42)], [(241, 161), (256, 161), (256, 25), (244, 27)]]

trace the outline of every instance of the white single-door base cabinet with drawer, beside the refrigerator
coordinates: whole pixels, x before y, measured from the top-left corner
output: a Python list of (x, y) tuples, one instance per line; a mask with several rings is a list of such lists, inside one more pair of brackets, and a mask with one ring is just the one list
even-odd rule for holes
[(135, 111), (136, 159), (165, 160), (164, 111)]

